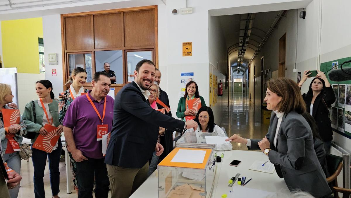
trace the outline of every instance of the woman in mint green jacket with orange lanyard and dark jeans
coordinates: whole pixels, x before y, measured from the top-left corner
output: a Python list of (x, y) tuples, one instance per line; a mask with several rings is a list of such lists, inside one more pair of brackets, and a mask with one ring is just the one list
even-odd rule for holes
[[(38, 100), (34, 100), (33, 103), (29, 102), (26, 104), (24, 113), (22, 115), (25, 124), (27, 125), (28, 132), (35, 132), (35, 138), (31, 140), (32, 145), (37, 140), (39, 134), (47, 135), (47, 130), (43, 127), (45, 124), (58, 127), (57, 134), (61, 135), (63, 126), (59, 122), (59, 102), (54, 100), (54, 94), (52, 92), (52, 84), (48, 80), (41, 80), (35, 83), (35, 90), (39, 96)], [(33, 109), (35, 110), (35, 118), (33, 115)], [(49, 159), (49, 171), (50, 171), (50, 183), (51, 191), (54, 198), (58, 198), (60, 192), (60, 172), (59, 163), (61, 156), (61, 138), (56, 143), (56, 148), (51, 153), (41, 151), (36, 148), (32, 148), (32, 161), (34, 167), (34, 194), (35, 198), (45, 197), (44, 191), (44, 170), (46, 165), (46, 158)]]

